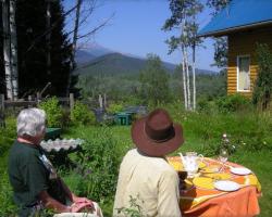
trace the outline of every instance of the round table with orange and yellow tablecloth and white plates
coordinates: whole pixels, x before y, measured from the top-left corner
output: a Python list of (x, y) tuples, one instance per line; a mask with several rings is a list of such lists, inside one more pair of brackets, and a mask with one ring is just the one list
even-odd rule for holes
[[(180, 156), (168, 157), (170, 165), (184, 175)], [(218, 169), (217, 169), (218, 168)], [(257, 176), (242, 165), (227, 162), (222, 164), (205, 157), (199, 171), (193, 178), (184, 180), (181, 189), (181, 210), (183, 216), (256, 216), (260, 213), (258, 197), (261, 186)], [(236, 173), (240, 169), (244, 173)], [(235, 171), (235, 173), (234, 173)], [(245, 173), (248, 171), (248, 173)], [(185, 178), (185, 177), (184, 177)], [(225, 181), (224, 181), (225, 180)], [(217, 183), (235, 182), (236, 188), (219, 188)]]

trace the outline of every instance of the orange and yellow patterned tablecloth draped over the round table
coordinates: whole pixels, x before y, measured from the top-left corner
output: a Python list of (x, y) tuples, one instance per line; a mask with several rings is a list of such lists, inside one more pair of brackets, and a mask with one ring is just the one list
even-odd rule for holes
[[(180, 170), (182, 166), (178, 156), (169, 157), (169, 163)], [(208, 166), (220, 165), (218, 161), (205, 158)], [(240, 165), (227, 162), (226, 165), (242, 167)], [(185, 191), (181, 191), (181, 209), (183, 216), (227, 216), (246, 217), (256, 216), (260, 213), (258, 196), (261, 194), (261, 186), (255, 174), (238, 176), (225, 167), (225, 174), (228, 174), (227, 180), (240, 184), (240, 189), (233, 192), (224, 192), (212, 189), (199, 188), (194, 186)], [(201, 174), (200, 174), (201, 176)]]

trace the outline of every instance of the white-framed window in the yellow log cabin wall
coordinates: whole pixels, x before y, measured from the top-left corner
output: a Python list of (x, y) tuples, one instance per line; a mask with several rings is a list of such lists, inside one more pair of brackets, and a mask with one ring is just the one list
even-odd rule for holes
[(237, 91), (250, 90), (249, 65), (249, 55), (243, 55), (237, 58)]

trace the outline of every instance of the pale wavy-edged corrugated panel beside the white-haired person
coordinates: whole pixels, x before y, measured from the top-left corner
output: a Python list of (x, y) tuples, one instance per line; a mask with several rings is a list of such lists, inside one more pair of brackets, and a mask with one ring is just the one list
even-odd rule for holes
[(55, 140), (42, 140), (40, 146), (46, 152), (60, 152), (60, 151), (72, 151), (79, 148), (83, 144), (82, 139), (55, 139)]

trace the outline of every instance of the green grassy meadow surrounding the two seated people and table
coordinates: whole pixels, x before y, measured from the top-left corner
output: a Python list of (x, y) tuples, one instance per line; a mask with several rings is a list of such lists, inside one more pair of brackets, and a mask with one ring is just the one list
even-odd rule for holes
[[(256, 173), (261, 186), (259, 199), (262, 217), (272, 214), (272, 113), (240, 108), (219, 112), (213, 104), (199, 112), (185, 112), (180, 102), (161, 105), (168, 108), (174, 122), (184, 128), (185, 143), (177, 152), (196, 151), (205, 156), (217, 157), (221, 138), (230, 138), (230, 161), (242, 164)], [(7, 154), (15, 138), (14, 120), (1, 129), (0, 158), (0, 216), (13, 216), (15, 206), (7, 177)], [(104, 216), (111, 216), (119, 165), (127, 150), (134, 146), (131, 126), (71, 126), (63, 138), (85, 140), (83, 152), (70, 154), (70, 164), (58, 170), (67, 186), (78, 195), (100, 203)]]

